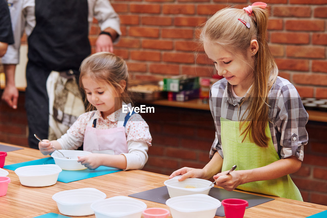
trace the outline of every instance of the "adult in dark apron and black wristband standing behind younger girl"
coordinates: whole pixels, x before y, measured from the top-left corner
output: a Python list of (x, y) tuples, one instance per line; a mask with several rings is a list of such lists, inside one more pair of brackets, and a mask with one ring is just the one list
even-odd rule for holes
[(14, 74), (25, 29), (28, 144), (38, 149), (33, 134), (57, 138), (85, 111), (77, 85), (78, 69), (91, 54), (88, 34), (93, 18), (102, 31), (95, 51), (112, 52), (113, 42), (121, 35), (119, 17), (108, 0), (9, 0), (8, 5), (15, 44), (2, 58), (6, 75), (2, 99), (17, 108)]

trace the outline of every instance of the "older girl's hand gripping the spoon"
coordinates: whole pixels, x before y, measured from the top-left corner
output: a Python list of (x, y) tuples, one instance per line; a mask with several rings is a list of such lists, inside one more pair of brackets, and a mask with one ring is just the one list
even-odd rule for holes
[(214, 175), (216, 185), (223, 187), (227, 191), (233, 191), (237, 186), (243, 184), (239, 171), (234, 170), (227, 175), (228, 171), (224, 171)]

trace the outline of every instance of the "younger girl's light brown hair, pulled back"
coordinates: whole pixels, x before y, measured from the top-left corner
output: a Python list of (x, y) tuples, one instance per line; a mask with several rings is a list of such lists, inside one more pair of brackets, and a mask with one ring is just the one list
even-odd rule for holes
[[(84, 90), (82, 79), (85, 76), (89, 76), (96, 82), (104, 82), (111, 85), (117, 94), (120, 93), (118, 90), (123, 90), (123, 92), (118, 95), (119, 99), (117, 103), (119, 103), (119, 105), (121, 105), (122, 101), (125, 103), (131, 102), (128, 92), (128, 69), (126, 62), (121, 57), (110, 52), (97, 52), (83, 60), (79, 71), (79, 86), (82, 90)], [(122, 80), (126, 82), (124, 89), (120, 85)], [(86, 98), (85, 102), (87, 103), (87, 111), (95, 109)]]

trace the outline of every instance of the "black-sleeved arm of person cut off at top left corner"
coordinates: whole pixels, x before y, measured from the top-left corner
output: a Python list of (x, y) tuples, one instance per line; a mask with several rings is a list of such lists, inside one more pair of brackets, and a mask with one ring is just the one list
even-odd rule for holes
[(8, 3), (6, 0), (0, 0), (0, 57), (5, 55), (8, 45), (13, 43)]

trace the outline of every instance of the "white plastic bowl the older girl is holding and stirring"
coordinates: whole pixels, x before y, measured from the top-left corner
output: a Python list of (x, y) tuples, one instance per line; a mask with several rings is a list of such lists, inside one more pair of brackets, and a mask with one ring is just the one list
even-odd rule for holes
[(214, 187), (214, 184), (209, 186), (212, 183), (209, 180), (187, 178), (184, 181), (178, 181), (178, 177), (179, 176), (168, 179), (163, 183), (165, 186), (167, 186), (168, 193), (171, 198), (189, 194), (209, 194), (210, 189)]

